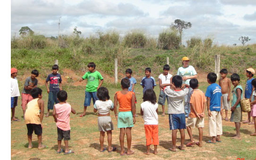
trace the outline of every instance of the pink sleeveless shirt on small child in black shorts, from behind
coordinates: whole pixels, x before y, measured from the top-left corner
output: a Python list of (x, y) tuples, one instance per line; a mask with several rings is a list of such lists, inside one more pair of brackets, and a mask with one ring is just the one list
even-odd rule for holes
[(62, 129), (63, 131), (68, 131), (70, 130), (70, 125), (69, 125), (69, 113), (71, 112), (71, 106), (68, 103), (57, 103), (54, 105), (56, 109), (56, 117), (57, 117), (57, 122), (56, 125), (58, 128)]

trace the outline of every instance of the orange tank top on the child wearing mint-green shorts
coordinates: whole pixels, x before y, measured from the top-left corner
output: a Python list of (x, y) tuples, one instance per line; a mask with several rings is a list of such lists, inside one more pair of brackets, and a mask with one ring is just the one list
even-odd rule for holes
[[(127, 112), (132, 110), (132, 95), (134, 92), (122, 94), (120, 91), (116, 92), (117, 101), (119, 102), (119, 112)], [(134, 94), (135, 95), (135, 94)]]

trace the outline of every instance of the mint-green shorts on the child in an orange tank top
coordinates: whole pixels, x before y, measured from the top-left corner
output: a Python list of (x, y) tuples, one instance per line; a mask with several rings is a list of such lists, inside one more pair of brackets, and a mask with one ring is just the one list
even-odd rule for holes
[(133, 117), (132, 112), (119, 112), (118, 113), (118, 121), (117, 121), (117, 127), (118, 128), (127, 128), (127, 127), (133, 127)]

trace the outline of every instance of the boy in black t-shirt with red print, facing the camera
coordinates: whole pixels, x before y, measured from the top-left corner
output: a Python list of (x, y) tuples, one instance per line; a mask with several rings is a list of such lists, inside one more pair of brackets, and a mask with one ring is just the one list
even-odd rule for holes
[[(47, 89), (48, 95), (48, 105), (47, 105), (47, 114), (45, 117), (49, 117), (50, 114), (50, 109), (53, 109), (54, 103), (57, 104), (59, 103), (57, 99), (57, 93), (62, 90), (62, 79), (60, 74), (58, 73), (59, 66), (58, 65), (53, 65), (51, 67), (52, 73), (47, 76), (46, 81), (45, 81), (45, 86)], [(50, 81), (50, 89), (48, 88), (48, 81)]]

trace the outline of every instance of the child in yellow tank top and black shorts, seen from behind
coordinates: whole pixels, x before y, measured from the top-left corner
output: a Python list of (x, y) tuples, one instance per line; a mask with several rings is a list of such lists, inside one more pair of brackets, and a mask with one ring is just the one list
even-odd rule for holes
[(38, 149), (46, 148), (42, 144), (42, 133), (43, 133), (43, 114), (44, 114), (44, 101), (42, 100), (42, 89), (33, 88), (31, 90), (32, 101), (27, 103), (27, 109), (25, 112), (25, 123), (27, 127), (27, 139), (28, 148), (33, 148), (32, 145), (32, 134), (37, 135)]

